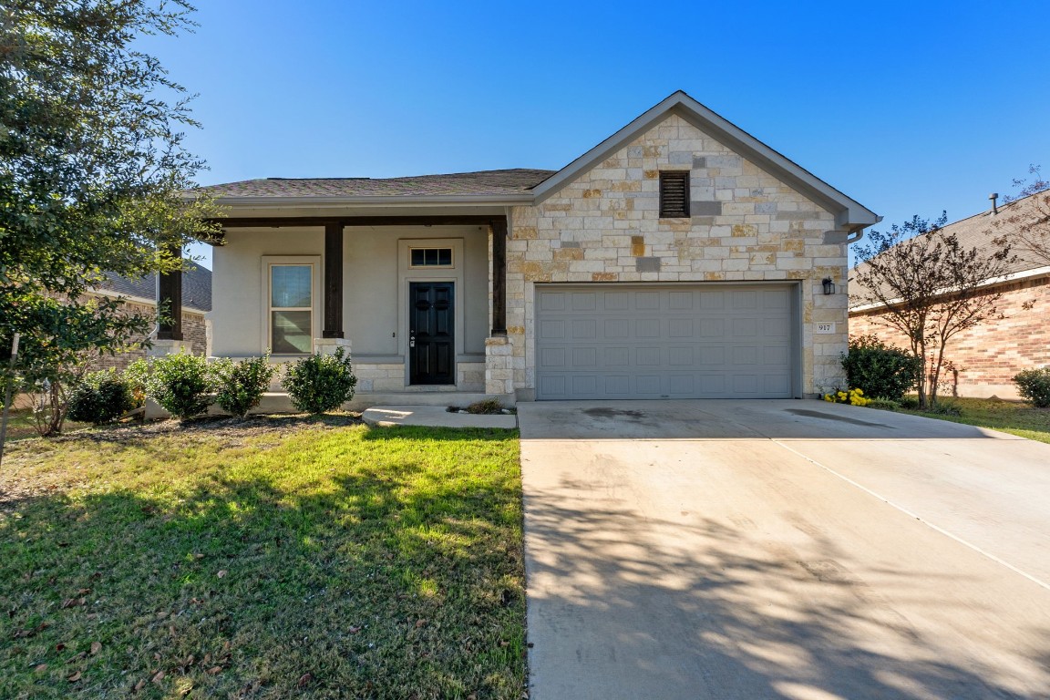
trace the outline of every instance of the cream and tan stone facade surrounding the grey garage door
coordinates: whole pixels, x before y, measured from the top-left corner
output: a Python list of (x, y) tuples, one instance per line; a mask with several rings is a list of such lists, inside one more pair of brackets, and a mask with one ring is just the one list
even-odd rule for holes
[[(691, 173), (692, 217), (659, 217), (662, 170)], [(541, 204), (511, 210), (507, 341), (486, 346), (486, 391), (534, 390), (537, 282), (798, 280), (802, 391), (841, 385), (846, 232), (834, 229), (832, 213), (670, 114)], [(838, 294), (822, 293), (824, 277)], [(818, 323), (835, 332), (815, 334)]]

